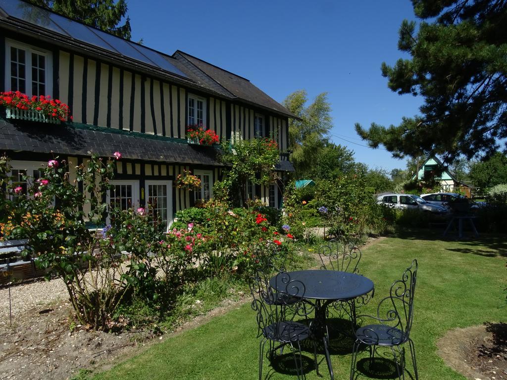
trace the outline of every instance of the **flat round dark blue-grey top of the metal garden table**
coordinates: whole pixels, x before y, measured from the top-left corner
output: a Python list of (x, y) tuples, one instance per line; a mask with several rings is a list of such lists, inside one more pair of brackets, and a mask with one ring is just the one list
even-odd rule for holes
[[(355, 273), (306, 270), (288, 272), (292, 280), (305, 285), (304, 298), (310, 299), (352, 299), (373, 290), (373, 281)], [(277, 276), (270, 280), (270, 285), (278, 291), (284, 291), (286, 283), (277, 281)]]

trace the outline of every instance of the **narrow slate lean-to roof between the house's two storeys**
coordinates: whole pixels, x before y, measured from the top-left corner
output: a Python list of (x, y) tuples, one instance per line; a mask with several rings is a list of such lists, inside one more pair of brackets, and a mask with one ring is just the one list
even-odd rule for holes
[(90, 152), (112, 157), (115, 151), (120, 151), (124, 159), (130, 160), (224, 166), (218, 160), (218, 149), (190, 145), (185, 140), (173, 142), (106, 128), (81, 129), (0, 119), (0, 152), (4, 150), (54, 151), (56, 154), (88, 157)]

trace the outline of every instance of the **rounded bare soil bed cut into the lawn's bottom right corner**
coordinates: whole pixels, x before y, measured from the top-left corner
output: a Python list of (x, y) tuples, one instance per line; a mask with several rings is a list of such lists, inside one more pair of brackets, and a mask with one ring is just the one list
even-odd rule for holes
[(507, 380), (507, 324), (456, 328), (437, 346), (444, 361), (470, 380)]

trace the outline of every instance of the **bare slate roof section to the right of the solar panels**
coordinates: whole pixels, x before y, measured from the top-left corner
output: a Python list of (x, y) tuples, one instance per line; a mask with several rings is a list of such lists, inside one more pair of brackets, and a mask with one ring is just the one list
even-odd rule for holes
[[(184, 63), (185, 61), (192, 63), (195, 67), (197, 67), (202, 74), (200, 74), (200, 78), (203, 81), (209, 81), (209, 79), (213, 80), (216, 84), (218, 84), (223, 90), (222, 92), (225, 94), (226, 92), (232, 94), (233, 97), (236, 97), (241, 100), (246, 100), (247, 102), (259, 104), (266, 108), (272, 109), (278, 113), (282, 113), (289, 118), (297, 118), (294, 113), (289, 111), (287, 108), (282, 106), (276, 100), (271, 98), (265, 92), (254, 86), (249, 80), (240, 77), (230, 71), (224, 70), (218, 66), (212, 65), (206, 61), (203, 61), (200, 58), (194, 57), (190, 54), (177, 50), (173, 57)], [(188, 69), (188, 67), (187, 67)], [(187, 71), (185, 71), (187, 72)], [(198, 73), (194, 71), (194, 74)], [(219, 91), (220, 92), (220, 91)]]

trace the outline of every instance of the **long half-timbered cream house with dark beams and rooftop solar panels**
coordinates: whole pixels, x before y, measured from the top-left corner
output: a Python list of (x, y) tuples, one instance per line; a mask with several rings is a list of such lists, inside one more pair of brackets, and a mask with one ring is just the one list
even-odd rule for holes
[[(274, 138), (279, 177), (294, 170), (286, 154), (294, 115), (247, 79), (190, 54), (167, 55), (22, 0), (0, 0), (0, 51), (1, 91), (50, 95), (73, 115), (47, 124), (0, 110), (0, 152), (19, 178), (37, 176), (55, 156), (72, 169), (91, 153), (120, 151), (110, 201), (156, 203), (169, 225), (176, 211), (212, 197), (224, 168), (215, 147), (188, 143), (187, 125), (202, 124), (221, 140)], [(200, 190), (174, 186), (183, 170), (201, 178)], [(249, 186), (248, 193), (278, 207), (281, 188)]]

